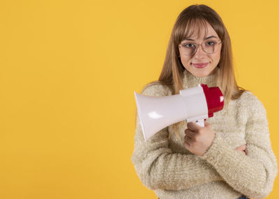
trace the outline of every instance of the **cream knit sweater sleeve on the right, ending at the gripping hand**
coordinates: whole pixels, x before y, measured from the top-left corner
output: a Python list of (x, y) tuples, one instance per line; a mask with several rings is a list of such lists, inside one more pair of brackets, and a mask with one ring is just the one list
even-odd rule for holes
[(211, 147), (202, 159), (206, 159), (216, 168), (236, 191), (250, 198), (264, 198), (273, 189), (278, 165), (271, 148), (269, 124), (262, 102), (252, 93), (246, 95), (244, 99), (246, 103), (243, 104), (249, 107), (246, 110), (247, 155), (231, 148), (220, 135), (216, 134)]

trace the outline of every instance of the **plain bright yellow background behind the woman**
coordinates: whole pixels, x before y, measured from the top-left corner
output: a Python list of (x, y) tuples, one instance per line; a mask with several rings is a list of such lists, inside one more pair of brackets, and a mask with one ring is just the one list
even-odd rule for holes
[[(204, 3), (279, 154), (277, 1), (0, 1), (0, 198), (156, 198), (130, 161), (135, 98), (179, 13)], [(276, 180), (268, 198), (279, 197)]]

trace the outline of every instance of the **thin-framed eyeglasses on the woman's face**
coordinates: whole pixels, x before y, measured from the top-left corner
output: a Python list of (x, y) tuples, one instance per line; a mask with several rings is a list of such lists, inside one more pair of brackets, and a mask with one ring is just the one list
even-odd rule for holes
[[(205, 40), (200, 44), (202, 46), (202, 50), (206, 52), (207, 54), (213, 54), (216, 51), (218, 51), (219, 45), (222, 42), (219, 42), (220, 40)], [(193, 55), (197, 52), (197, 48), (199, 47), (199, 44), (195, 42), (183, 42), (179, 45), (181, 48), (182, 54), (188, 56)]]

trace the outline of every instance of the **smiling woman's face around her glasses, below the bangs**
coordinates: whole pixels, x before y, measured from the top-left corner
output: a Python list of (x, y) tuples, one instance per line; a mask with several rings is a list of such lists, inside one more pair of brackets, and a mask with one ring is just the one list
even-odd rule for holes
[[(186, 55), (185, 49), (183, 47), (179, 47), (179, 56), (181, 57), (181, 63), (183, 66), (193, 74), (195, 77), (206, 77), (217, 67), (219, 61), (220, 61), (220, 54), (221, 54), (221, 47), (222, 43), (220, 45), (217, 45), (218, 50), (214, 52), (213, 54), (207, 54), (203, 49), (202, 46), (199, 44), (202, 44), (204, 42), (204, 47), (209, 47), (213, 44), (213, 42), (220, 42), (220, 38), (218, 37), (216, 31), (211, 27), (211, 25), (206, 22), (207, 27), (207, 33), (204, 27), (200, 30), (200, 37), (197, 38), (197, 33), (199, 31), (199, 27), (194, 27), (194, 33), (190, 38), (187, 38), (186, 40), (183, 40), (180, 44), (185, 47), (193, 47), (193, 44), (197, 44), (197, 51), (193, 55)], [(206, 35), (205, 35), (206, 33)], [(211, 38), (209, 38), (211, 37)], [(207, 39), (206, 39), (207, 38)], [(213, 41), (213, 42), (211, 42)], [(209, 47), (210, 48), (210, 47)]]

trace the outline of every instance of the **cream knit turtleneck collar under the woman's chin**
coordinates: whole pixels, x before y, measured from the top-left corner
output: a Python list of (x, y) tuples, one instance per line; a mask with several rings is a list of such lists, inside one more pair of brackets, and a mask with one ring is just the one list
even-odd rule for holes
[(188, 70), (183, 71), (183, 88), (193, 88), (199, 85), (199, 83), (206, 84), (208, 87), (216, 86), (216, 79), (218, 77), (218, 71), (213, 74), (209, 74), (206, 77), (195, 77)]

